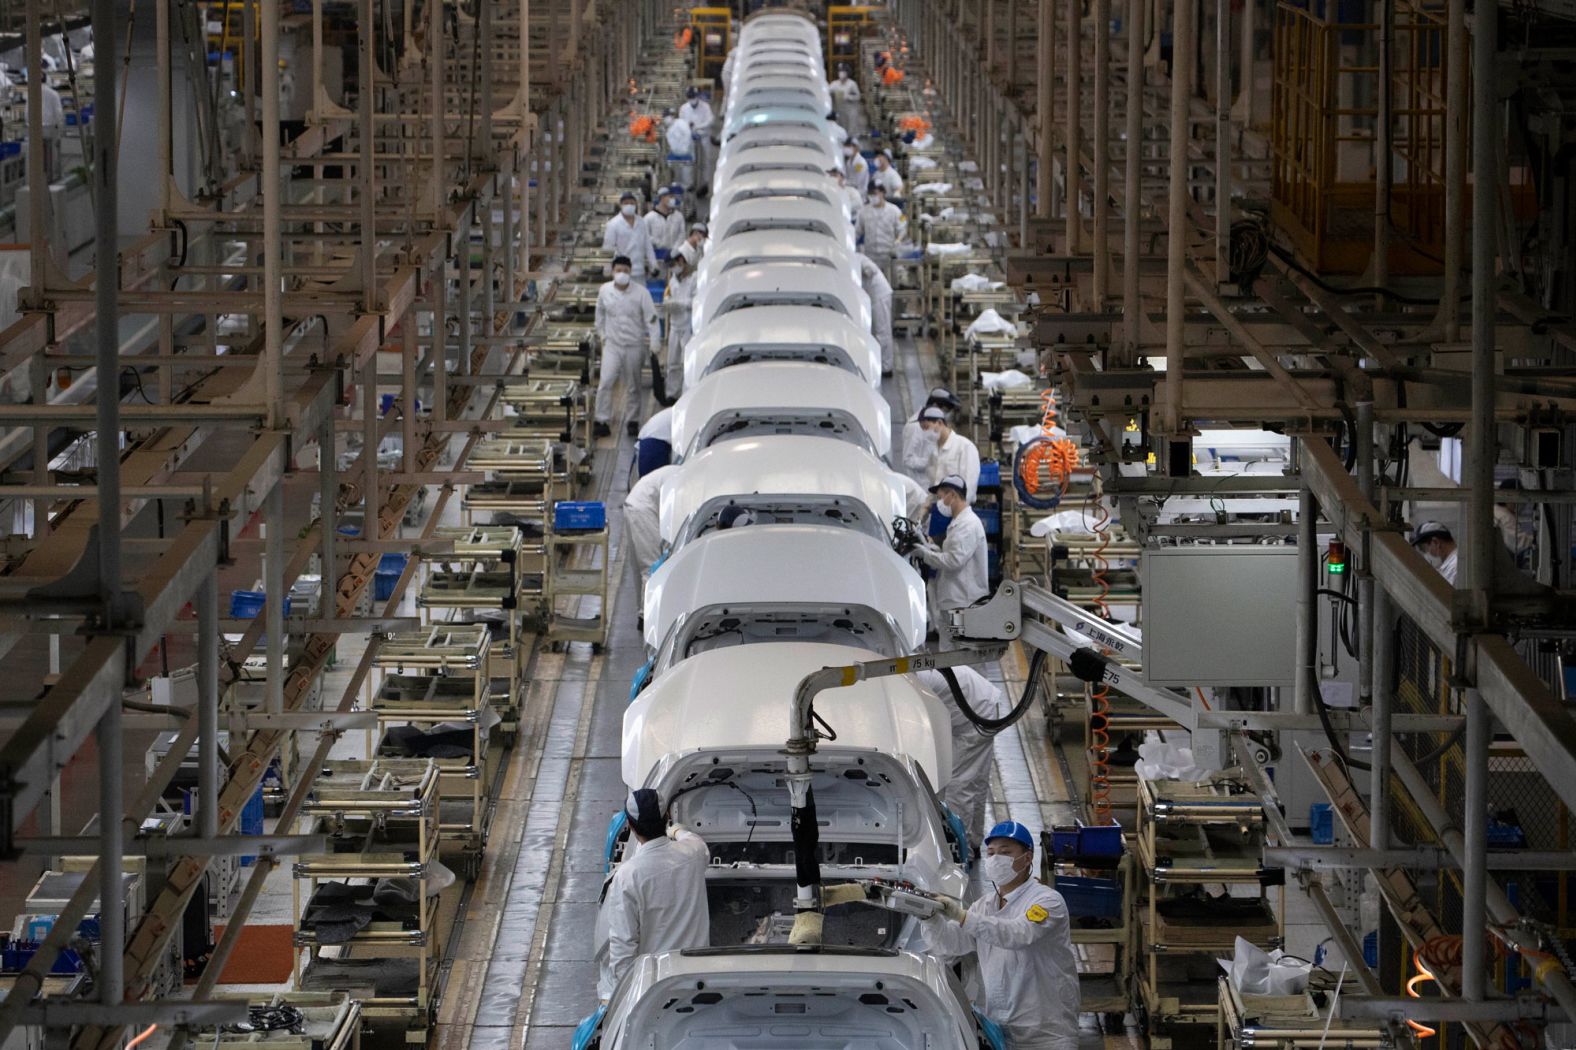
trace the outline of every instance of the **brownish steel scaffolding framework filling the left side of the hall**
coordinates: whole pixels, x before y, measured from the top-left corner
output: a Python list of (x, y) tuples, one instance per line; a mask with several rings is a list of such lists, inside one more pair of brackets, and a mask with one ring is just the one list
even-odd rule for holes
[[(0, 661), (36, 665), (50, 634), (80, 635), (58, 676), (0, 746), (3, 851), (11, 853), (20, 826), (39, 812), (43, 834), (74, 831), (50, 826), (39, 802), (95, 732), (101, 814), (107, 817), (93, 850), (96, 881), (84, 883), (24, 979), (0, 1003), (0, 1034), (24, 1020), (24, 1007), (41, 987), (38, 977), (49, 971), (98, 886), (106, 900), (118, 899), (123, 840), (136, 834), (194, 738), (202, 738), (199, 839), (172, 864), (147, 913), (131, 916), (125, 935), (112, 925), (117, 910), (104, 908), (106, 943), (125, 941), (126, 951), (99, 960), (99, 1009), (46, 1011), (49, 1023), (91, 1025), (79, 1033), (79, 1047), (118, 1045), (128, 1023), (202, 1014), (202, 1003), (131, 1004), (150, 996), (167, 938), (213, 855), (225, 850), (221, 836), (233, 836), (271, 757), (296, 732), (288, 719), (339, 632), (378, 627), (377, 618), (358, 620), (356, 607), (372, 582), (380, 544), (396, 538), (416, 492), (413, 478), (457, 459), (451, 445), (468, 448), (476, 440), (465, 430), (479, 418), (479, 405), (495, 397), (481, 383), (459, 380), (514, 372), (523, 363), (523, 323), (536, 309), (534, 265), (572, 218), (593, 132), (659, 19), (656, 0), (539, 0), (534, 8), (530, 0), (484, 0), (468, 8), (430, 0), (419, 6), (314, 0), (310, 104), (304, 126), (288, 137), (281, 132), (276, 0), (257, 5), (255, 19), (254, 5), (244, 5), (238, 50), (260, 55), (262, 76), (257, 85), (241, 87), (244, 118), (229, 136), (214, 106), (219, 87), (210, 90), (235, 87), (224, 57), (183, 44), (183, 20), (195, 5), (156, 0), (153, 6), (159, 61), (158, 73), (147, 76), (158, 79), (158, 167), (131, 170), (121, 162), (117, 170), (115, 121), (99, 121), (93, 270), (80, 281), (66, 276), (71, 263), (47, 236), (35, 235), (24, 315), (0, 333), (0, 369), (8, 380), (32, 377), (35, 394), (32, 405), (11, 407), (0, 419), (25, 437), (32, 457), (32, 484), (0, 492), (32, 509), (32, 531), (11, 536), (5, 550)], [(25, 11), (30, 68), (39, 71), (41, 5), (28, 0)], [(355, 44), (326, 39), (329, 11), (340, 25), (353, 19), (361, 30)], [(109, 52), (123, 16), (110, 0), (98, 0), (93, 25)], [(345, 55), (353, 90), (331, 90), (329, 49)], [(117, 112), (115, 71), (115, 63), (99, 63), (101, 114)], [(28, 80), (35, 140), (43, 140), (36, 126), (43, 77)], [(181, 85), (195, 85), (192, 99), (178, 96)], [(184, 184), (186, 158), (175, 151), (177, 123), (188, 110), (197, 114), (195, 123), (183, 125), (181, 134), (203, 159), (195, 184)], [(28, 172), (38, 232), (47, 229), (50, 194), (35, 153), (43, 151), (30, 151)], [(151, 225), (131, 243), (118, 235), (115, 208), (117, 186), (126, 180), (158, 186)], [(151, 323), (139, 328), (121, 318)], [(96, 383), (91, 408), (46, 405), (46, 391), (54, 388), (49, 377), (68, 363), (82, 369), (80, 347), (90, 334), (91, 369), (72, 385), (95, 389)], [(380, 375), (380, 353), (400, 355), (397, 377)], [(137, 402), (123, 407), (128, 370), (136, 374)], [(397, 386), (394, 405), (381, 415), (380, 386)], [(336, 432), (345, 429), (362, 443), (356, 462), (339, 471)], [(87, 430), (96, 435), (93, 484), (72, 492), (55, 484), (50, 460), (60, 440)], [(378, 465), (386, 434), (405, 440), (399, 471)], [(320, 512), (299, 536), (285, 534), (284, 478), (310, 473), (303, 452), (314, 446)], [(162, 538), (121, 542), (126, 527), (154, 503), (169, 522)], [(337, 536), (340, 517), (358, 506), (362, 534)], [(268, 601), (221, 665), (216, 566), (257, 511), (266, 523)], [(285, 672), (281, 598), (314, 555), (331, 583), (318, 623), (296, 639), (299, 656)], [(150, 651), (178, 635), (195, 639), (200, 700), (178, 720), (170, 757), (139, 798), (128, 799), (118, 761), (123, 691)], [(241, 739), (232, 736), (229, 765), (221, 768), (214, 747), (219, 689), (260, 645), (269, 668), (268, 698), (263, 711), (249, 716), (257, 727)], [(359, 675), (340, 708), (355, 698), (356, 683)], [(299, 728), (333, 722), (333, 705)], [(323, 736), (320, 750), (329, 741)], [(322, 757), (293, 785), (295, 806)], [(247, 840), (235, 842), (236, 853), (246, 851)], [(244, 924), (255, 900), (262, 880), (252, 881), (229, 919), (232, 930)], [(221, 952), (233, 943), (225, 938)], [(214, 962), (213, 973), (221, 963)], [(128, 1003), (123, 1011), (121, 1000)]]

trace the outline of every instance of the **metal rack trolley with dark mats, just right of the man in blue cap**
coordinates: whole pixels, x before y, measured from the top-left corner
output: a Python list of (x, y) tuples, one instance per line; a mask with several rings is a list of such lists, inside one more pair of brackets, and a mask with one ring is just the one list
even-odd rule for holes
[[(1284, 872), (1264, 866), (1264, 802), (1229, 774), (1209, 780), (1138, 779), (1138, 861), (1144, 869), (1146, 905), (1139, 938), (1144, 962), (1138, 985), (1150, 1045), (1166, 1050), (1171, 1036), (1218, 1022), (1215, 959), (1242, 936), (1259, 948), (1281, 943)], [(1237, 900), (1242, 916), (1166, 916), (1162, 905), (1202, 886), (1253, 888)], [(1280, 888), (1277, 907), (1269, 891)], [(1207, 976), (1206, 976), (1207, 974)]]

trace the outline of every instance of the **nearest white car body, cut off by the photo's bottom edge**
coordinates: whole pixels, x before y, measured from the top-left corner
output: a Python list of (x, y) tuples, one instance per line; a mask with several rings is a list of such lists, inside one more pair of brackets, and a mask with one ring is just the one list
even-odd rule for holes
[(999, 1050), (952, 971), (930, 955), (854, 948), (739, 946), (635, 960), (574, 1050), (788, 1045)]

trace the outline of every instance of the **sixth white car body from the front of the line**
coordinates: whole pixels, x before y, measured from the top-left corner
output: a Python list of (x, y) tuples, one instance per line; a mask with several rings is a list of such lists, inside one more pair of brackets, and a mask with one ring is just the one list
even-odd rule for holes
[(755, 306), (717, 317), (684, 344), (684, 388), (753, 361), (829, 364), (881, 386), (881, 344), (857, 320), (815, 306)]

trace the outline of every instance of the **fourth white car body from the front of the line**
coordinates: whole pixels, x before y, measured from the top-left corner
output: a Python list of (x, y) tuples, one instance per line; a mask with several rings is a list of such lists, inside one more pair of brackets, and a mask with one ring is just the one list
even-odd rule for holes
[(846, 441), (785, 434), (712, 445), (662, 481), (659, 533), (678, 550), (716, 528), (728, 505), (764, 522), (818, 520), (890, 541), (908, 512), (908, 487), (879, 459)]

